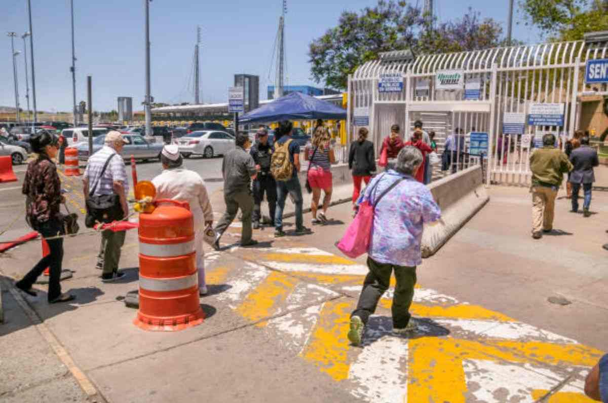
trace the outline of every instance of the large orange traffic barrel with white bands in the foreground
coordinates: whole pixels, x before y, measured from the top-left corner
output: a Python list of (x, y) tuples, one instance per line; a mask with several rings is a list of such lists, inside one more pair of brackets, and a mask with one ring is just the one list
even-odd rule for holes
[(153, 212), (139, 215), (139, 310), (133, 323), (148, 331), (178, 331), (204, 319), (194, 221), (188, 203), (154, 204)]

